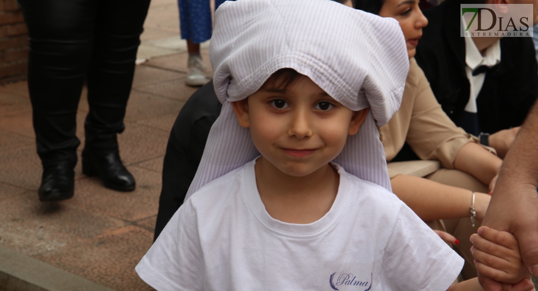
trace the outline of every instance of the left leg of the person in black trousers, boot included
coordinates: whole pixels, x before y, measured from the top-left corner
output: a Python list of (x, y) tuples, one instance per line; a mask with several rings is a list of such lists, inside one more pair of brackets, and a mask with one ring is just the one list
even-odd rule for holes
[(93, 1), (20, 0), (30, 35), (28, 86), (43, 163), (41, 201), (73, 196), (75, 117), (91, 53)]

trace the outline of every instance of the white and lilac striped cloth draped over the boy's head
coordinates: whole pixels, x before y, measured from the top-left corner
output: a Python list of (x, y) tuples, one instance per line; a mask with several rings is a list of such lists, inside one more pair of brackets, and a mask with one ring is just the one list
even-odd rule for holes
[(223, 107), (186, 199), (259, 155), (230, 102), (253, 94), (282, 68), (308, 76), (351, 110), (370, 107), (334, 162), (391, 190), (376, 125), (383, 126), (398, 111), (409, 71), (405, 38), (395, 19), (328, 0), (228, 1), (215, 12), (209, 55)]

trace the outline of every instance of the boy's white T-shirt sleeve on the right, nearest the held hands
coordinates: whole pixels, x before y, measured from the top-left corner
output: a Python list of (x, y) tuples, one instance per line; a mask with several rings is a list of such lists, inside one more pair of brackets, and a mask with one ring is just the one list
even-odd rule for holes
[(383, 256), (387, 290), (447, 290), (463, 259), (406, 205), (402, 205)]

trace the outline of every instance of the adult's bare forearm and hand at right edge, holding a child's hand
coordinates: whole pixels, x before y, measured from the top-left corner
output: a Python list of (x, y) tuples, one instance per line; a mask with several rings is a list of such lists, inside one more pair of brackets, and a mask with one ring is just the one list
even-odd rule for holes
[[(528, 271), (538, 276), (538, 105), (506, 155), (483, 225), (513, 233)], [(490, 289), (486, 289), (490, 290)]]

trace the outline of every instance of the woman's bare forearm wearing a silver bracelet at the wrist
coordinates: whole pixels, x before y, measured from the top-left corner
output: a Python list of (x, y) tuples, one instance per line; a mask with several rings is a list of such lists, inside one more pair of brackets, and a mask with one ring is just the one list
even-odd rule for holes
[[(428, 179), (398, 175), (391, 179), (392, 191), (423, 221), (469, 216), (472, 191), (447, 186)], [(490, 203), (490, 195), (476, 193), (475, 209), (482, 222)]]

